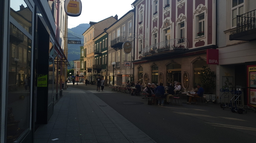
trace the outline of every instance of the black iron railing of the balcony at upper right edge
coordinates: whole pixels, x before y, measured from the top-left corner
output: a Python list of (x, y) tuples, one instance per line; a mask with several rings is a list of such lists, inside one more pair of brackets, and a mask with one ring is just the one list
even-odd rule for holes
[(255, 12), (256, 9), (236, 16), (236, 33), (255, 28)]

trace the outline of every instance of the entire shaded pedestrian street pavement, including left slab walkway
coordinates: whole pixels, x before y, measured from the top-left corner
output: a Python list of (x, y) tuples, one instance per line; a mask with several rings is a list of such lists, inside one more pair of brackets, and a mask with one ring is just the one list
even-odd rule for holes
[[(147, 105), (141, 96), (96, 85), (69, 84), (36, 143), (254, 142), (256, 113), (233, 113), (219, 104)], [(58, 140), (52, 140), (58, 138)]]

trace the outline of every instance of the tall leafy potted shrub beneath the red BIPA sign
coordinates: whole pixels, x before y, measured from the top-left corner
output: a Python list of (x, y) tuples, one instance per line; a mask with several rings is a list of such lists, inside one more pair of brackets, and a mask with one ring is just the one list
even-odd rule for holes
[[(215, 72), (211, 70), (211, 68), (203, 66), (203, 70), (199, 72), (201, 86), (204, 88), (204, 94), (206, 94), (206, 99), (211, 98), (207, 101), (212, 101), (213, 103), (216, 102), (216, 96), (213, 95), (212, 90), (215, 89)], [(208, 96), (208, 97), (207, 97)]]

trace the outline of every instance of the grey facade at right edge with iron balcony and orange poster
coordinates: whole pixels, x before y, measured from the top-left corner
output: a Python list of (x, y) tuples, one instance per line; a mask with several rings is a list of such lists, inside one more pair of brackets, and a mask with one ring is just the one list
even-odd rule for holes
[[(256, 107), (256, 1), (218, 0), (217, 89), (241, 86), (244, 104)], [(216, 93), (217, 97), (222, 93)], [(218, 99), (218, 98), (217, 98)]]

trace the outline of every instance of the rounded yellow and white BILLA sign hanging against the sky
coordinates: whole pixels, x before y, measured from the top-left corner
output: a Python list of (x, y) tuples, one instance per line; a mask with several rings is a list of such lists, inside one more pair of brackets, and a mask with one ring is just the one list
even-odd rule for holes
[(65, 0), (65, 12), (70, 17), (78, 17), (82, 11), (81, 0)]

